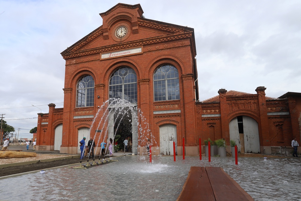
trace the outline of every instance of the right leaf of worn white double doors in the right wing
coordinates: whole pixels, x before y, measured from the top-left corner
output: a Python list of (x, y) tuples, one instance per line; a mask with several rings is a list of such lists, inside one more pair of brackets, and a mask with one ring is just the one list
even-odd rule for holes
[(244, 147), (246, 153), (259, 153), (258, 123), (251, 117), (243, 116)]

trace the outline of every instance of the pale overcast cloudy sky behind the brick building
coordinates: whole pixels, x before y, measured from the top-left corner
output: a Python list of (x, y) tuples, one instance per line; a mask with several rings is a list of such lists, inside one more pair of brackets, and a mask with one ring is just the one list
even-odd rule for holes
[(221, 88), (256, 93), (265, 86), (274, 98), (301, 92), (300, 0), (0, 0), (0, 115), (19, 138), (32, 138), (49, 103), (63, 107), (60, 53), (119, 2), (140, 3), (147, 19), (194, 28), (200, 101)]

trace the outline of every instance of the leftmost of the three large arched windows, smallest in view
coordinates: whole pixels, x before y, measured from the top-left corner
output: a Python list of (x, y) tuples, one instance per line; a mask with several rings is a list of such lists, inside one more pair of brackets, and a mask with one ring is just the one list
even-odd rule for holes
[(81, 77), (76, 86), (76, 107), (94, 106), (94, 79), (91, 75)]

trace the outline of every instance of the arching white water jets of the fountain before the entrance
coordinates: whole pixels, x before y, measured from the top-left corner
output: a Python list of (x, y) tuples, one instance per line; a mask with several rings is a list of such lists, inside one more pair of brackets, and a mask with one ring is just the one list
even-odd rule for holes
[[(99, 117), (99, 114), (101, 112), (102, 112), (102, 116)], [(132, 116), (130, 117), (129, 114), (131, 114)], [(140, 148), (140, 144), (146, 144), (147, 139), (151, 139), (152, 142), (157, 144), (154, 136), (151, 133), (151, 130), (149, 129), (149, 124), (147, 123), (146, 118), (143, 116), (143, 112), (139, 108), (137, 108), (137, 106), (133, 105), (131, 102), (125, 99), (110, 98), (109, 100), (105, 101), (103, 105), (99, 107), (89, 130), (89, 132), (91, 133), (91, 129), (93, 128), (95, 122), (99, 120), (96, 132), (93, 137), (93, 142), (96, 142), (95, 139), (97, 137), (98, 131), (100, 130), (100, 135), (96, 143), (95, 152), (97, 152), (97, 149), (101, 143), (100, 142), (101, 136), (104, 136), (103, 139), (107, 139), (107, 138), (115, 139), (116, 133), (114, 132), (114, 125), (116, 125), (116, 130), (118, 130), (120, 122), (123, 121), (123, 119), (126, 117), (127, 119), (131, 118), (129, 122), (132, 124), (132, 133), (133, 133), (132, 139), (133, 139), (133, 146), (135, 145), (134, 152), (136, 152), (136, 154), (138, 153), (138, 148)], [(134, 128), (135, 126), (136, 128)], [(91, 154), (91, 150), (88, 153), (88, 158), (90, 154)], [(104, 160), (102, 160), (101, 162), (104, 162)], [(95, 164), (98, 165), (99, 163), (100, 163), (100, 156), (99, 156), (99, 162), (95, 162), (95, 158), (93, 158), (93, 163), (89, 163), (89, 159), (88, 159), (87, 164), (84, 164), (83, 167), (82, 160), (81, 160), (80, 165), (78, 167), (73, 167), (73, 168), (86, 169), (87, 166), (93, 166)]]

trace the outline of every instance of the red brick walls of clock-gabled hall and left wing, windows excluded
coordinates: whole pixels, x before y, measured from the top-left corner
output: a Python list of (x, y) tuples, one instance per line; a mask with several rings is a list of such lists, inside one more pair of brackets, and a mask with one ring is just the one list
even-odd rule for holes
[[(64, 153), (76, 153), (78, 130), (91, 127), (98, 106), (109, 98), (111, 74), (120, 66), (127, 66), (137, 74), (137, 106), (143, 111), (159, 146), (159, 127), (171, 124), (176, 126), (178, 146), (182, 146), (184, 137), (187, 152), (191, 155), (198, 154), (195, 108), (198, 90), (197, 81), (195, 82), (197, 69), (194, 30), (145, 19), (142, 14), (143, 10), (139, 4), (119, 3), (100, 14), (103, 18), (101, 27), (61, 53), (66, 60), (64, 108), (54, 108), (55, 105), (50, 104), (49, 113), (39, 116), (37, 144), (40, 147), (53, 150), (55, 127), (63, 124), (60, 150)], [(125, 37), (118, 39), (115, 30), (120, 26), (125, 26), (128, 32)], [(141, 48), (141, 52), (102, 58), (106, 53), (114, 54), (135, 48)], [(178, 70), (181, 91), (178, 100), (154, 101), (154, 71), (162, 64), (172, 65)], [(94, 106), (77, 108), (76, 85), (80, 77), (86, 74), (91, 75), (95, 81)], [(169, 113), (174, 110), (179, 112)], [(92, 118), (74, 118), (80, 115), (92, 115)], [(42, 121), (47, 124), (41, 124)], [(94, 124), (91, 130), (95, 129)], [(90, 134), (94, 135), (92, 132)], [(144, 146), (143, 143), (140, 145)]]

